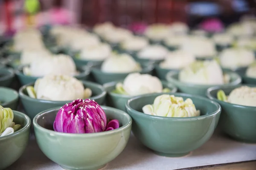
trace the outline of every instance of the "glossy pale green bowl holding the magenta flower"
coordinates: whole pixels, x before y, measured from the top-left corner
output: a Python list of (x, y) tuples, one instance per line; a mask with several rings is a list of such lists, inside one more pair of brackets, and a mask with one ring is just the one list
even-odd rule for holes
[(127, 113), (106, 106), (102, 108), (107, 119), (119, 120), (118, 129), (83, 134), (55, 132), (53, 122), (59, 108), (39, 113), (33, 120), (38, 146), (49, 159), (66, 170), (101, 169), (125, 148), (132, 123)]

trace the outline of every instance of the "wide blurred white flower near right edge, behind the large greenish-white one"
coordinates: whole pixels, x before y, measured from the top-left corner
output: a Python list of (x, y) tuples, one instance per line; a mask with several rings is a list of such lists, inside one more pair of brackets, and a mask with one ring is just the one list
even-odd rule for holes
[(243, 48), (227, 48), (220, 54), (220, 62), (223, 68), (235, 69), (247, 67), (254, 60), (253, 51)]

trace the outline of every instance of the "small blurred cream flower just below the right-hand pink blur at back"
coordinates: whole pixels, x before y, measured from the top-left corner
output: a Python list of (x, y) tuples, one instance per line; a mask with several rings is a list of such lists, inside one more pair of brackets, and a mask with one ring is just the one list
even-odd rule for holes
[(230, 45), (235, 40), (233, 35), (227, 33), (218, 33), (212, 36), (212, 40), (218, 45)]

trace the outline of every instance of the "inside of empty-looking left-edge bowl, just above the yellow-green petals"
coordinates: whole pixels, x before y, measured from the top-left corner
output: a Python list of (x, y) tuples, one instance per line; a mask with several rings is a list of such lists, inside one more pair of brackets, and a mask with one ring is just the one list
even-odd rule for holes
[(0, 87), (0, 105), (7, 104), (18, 98), (17, 91), (11, 88)]

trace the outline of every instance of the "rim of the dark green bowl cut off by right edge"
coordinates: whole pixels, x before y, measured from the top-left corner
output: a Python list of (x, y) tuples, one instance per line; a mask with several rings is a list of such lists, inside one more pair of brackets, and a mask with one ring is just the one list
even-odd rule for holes
[[(210, 88), (207, 89), (206, 96), (209, 99), (214, 100), (214, 101), (219, 102), (219, 103), (224, 104), (224, 105), (230, 105), (230, 106), (233, 106), (233, 107), (236, 107), (236, 108), (243, 108), (243, 109), (253, 109), (253, 110), (256, 111), (256, 107), (237, 105), (237, 104), (233, 104), (233, 103), (229, 103), (229, 102), (224, 102), (224, 101), (221, 101), (221, 100), (219, 100), (219, 99), (217, 99), (217, 98), (215, 98), (214, 96), (211, 95), (211, 91), (213, 91), (213, 90), (230, 89), (230, 88), (232, 88), (234, 90), (235, 88), (239, 88), (239, 87), (244, 86), (244, 85), (253, 85), (253, 84), (240, 84), (240, 85), (236, 85), (235, 87), (221, 87), (219, 85), (213, 86), (213, 87), (210, 87)], [(253, 85), (253, 86), (256, 87), (256, 85)]]

